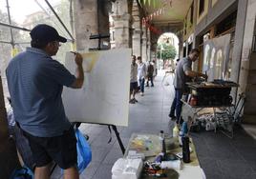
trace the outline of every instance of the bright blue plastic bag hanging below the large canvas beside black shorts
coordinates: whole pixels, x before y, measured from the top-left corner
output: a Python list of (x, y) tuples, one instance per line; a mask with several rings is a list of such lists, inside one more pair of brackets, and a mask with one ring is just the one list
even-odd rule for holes
[(75, 129), (75, 136), (77, 140), (77, 168), (81, 173), (92, 161), (92, 150), (79, 129)]

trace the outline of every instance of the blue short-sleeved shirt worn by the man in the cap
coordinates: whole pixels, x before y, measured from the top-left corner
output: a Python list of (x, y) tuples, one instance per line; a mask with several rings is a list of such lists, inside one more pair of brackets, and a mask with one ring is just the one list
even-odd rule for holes
[(53, 137), (71, 127), (62, 104), (63, 86), (75, 76), (43, 50), (27, 48), (6, 70), (14, 118), (33, 136)]

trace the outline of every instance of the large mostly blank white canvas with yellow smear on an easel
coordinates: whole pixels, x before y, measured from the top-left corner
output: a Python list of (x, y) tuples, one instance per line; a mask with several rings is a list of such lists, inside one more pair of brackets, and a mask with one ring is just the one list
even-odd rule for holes
[[(128, 126), (131, 50), (82, 53), (84, 84), (64, 88), (62, 99), (71, 122)], [(68, 52), (65, 66), (75, 74), (75, 55)]]

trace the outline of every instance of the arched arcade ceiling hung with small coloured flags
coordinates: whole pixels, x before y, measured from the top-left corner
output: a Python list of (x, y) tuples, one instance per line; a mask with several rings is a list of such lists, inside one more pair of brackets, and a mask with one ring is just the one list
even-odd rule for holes
[(151, 49), (157, 47), (164, 32), (174, 32), (181, 37), (179, 31), (192, 0), (138, 0), (138, 3), (143, 11), (142, 23), (151, 31)]

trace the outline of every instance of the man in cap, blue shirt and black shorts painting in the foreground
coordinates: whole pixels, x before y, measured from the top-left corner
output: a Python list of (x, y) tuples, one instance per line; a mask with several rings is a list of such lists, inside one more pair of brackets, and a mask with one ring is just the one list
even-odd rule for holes
[(83, 59), (75, 53), (73, 75), (52, 58), (66, 38), (45, 24), (37, 25), (30, 34), (32, 48), (11, 59), (6, 71), (15, 121), (29, 140), (35, 179), (50, 179), (52, 161), (64, 169), (64, 178), (77, 179), (75, 131), (66, 117), (61, 93), (63, 86), (82, 87)]

